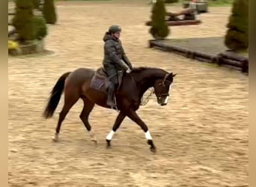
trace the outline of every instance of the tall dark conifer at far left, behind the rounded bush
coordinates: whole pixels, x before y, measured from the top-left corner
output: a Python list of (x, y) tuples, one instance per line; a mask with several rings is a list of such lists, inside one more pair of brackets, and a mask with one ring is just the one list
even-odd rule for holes
[(16, 13), (13, 16), (12, 24), (19, 34), (19, 40), (34, 40), (33, 17), (33, 1), (16, 0)]

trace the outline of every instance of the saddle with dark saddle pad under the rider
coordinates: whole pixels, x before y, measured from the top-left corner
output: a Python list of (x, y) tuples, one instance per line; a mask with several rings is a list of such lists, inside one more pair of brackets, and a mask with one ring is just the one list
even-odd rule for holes
[[(118, 72), (118, 88), (115, 90), (115, 93), (118, 93), (119, 88), (121, 87), (123, 74), (124, 73), (121, 71)], [(111, 82), (109, 80), (108, 74), (104, 70), (104, 67), (100, 67), (95, 71), (94, 76), (91, 79), (90, 87), (97, 91), (107, 93), (110, 83)]]

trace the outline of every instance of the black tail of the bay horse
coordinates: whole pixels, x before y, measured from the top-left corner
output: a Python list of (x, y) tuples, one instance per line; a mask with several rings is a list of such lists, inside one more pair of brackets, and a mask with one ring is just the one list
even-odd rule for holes
[(70, 75), (71, 72), (64, 73), (56, 82), (55, 86), (52, 88), (51, 96), (49, 97), (49, 101), (46, 105), (46, 108), (43, 111), (43, 117), (46, 119), (52, 117), (55, 109), (58, 106), (58, 102), (61, 99), (61, 94), (64, 90), (65, 80), (67, 76)]

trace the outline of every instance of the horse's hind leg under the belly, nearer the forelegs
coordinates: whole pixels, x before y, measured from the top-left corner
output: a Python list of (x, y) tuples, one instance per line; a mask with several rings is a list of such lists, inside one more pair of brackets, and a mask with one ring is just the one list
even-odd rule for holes
[(88, 121), (89, 114), (91, 113), (92, 109), (94, 108), (94, 102), (91, 102), (86, 97), (82, 98), (84, 101), (84, 108), (80, 114), (80, 119), (85, 125), (85, 128), (88, 130), (91, 136), (91, 141), (94, 141), (97, 144), (97, 138), (94, 135), (94, 131), (91, 129), (91, 125)]

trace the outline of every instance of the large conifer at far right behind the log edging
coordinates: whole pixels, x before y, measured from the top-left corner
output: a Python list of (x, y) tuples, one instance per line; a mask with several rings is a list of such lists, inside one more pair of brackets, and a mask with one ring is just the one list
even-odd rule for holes
[(249, 46), (248, 0), (234, 0), (227, 25), (225, 45), (233, 51), (247, 49)]

